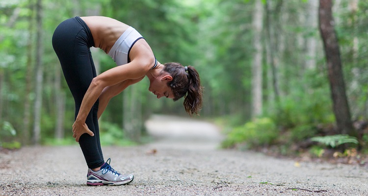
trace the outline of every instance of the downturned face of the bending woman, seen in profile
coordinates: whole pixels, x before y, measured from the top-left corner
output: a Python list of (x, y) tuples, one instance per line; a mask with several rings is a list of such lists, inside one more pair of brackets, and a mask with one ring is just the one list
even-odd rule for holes
[(171, 88), (167, 85), (167, 83), (172, 79), (173, 78), (171, 75), (158, 76), (156, 79), (150, 82), (150, 87), (148, 90), (155, 94), (157, 98), (174, 98)]

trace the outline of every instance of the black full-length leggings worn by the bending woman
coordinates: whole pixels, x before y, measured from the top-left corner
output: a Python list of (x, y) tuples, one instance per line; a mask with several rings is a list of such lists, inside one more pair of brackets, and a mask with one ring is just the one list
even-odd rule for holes
[[(75, 101), (75, 118), (84, 94), (92, 79), (96, 77), (96, 68), (90, 51), (94, 45), (88, 26), (79, 17), (62, 22), (53, 33), (53, 49), (59, 58), (65, 80)], [(105, 162), (100, 144), (98, 105), (99, 100), (93, 105), (85, 122), (95, 136), (83, 134), (79, 139), (79, 146), (88, 168), (98, 168)]]

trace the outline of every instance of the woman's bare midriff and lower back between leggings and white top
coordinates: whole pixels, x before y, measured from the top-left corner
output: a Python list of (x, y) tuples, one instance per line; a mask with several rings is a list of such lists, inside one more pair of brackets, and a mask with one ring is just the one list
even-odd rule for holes
[(100, 48), (106, 54), (110, 51), (116, 40), (129, 28), (120, 21), (103, 16), (80, 17), (91, 30), (95, 48)]

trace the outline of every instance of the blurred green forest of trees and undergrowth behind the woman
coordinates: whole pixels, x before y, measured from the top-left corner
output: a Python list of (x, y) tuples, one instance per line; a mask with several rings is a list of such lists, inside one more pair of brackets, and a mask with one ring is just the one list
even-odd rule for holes
[[(0, 146), (75, 144), (74, 100), (52, 47), (56, 26), (101, 15), (133, 26), (158, 61), (194, 66), (200, 116), (223, 147), (368, 153), (368, 1), (0, 0)], [(97, 72), (114, 66), (92, 48)], [(149, 81), (113, 98), (103, 145), (142, 143), (152, 114), (186, 117), (183, 99), (157, 99)]]

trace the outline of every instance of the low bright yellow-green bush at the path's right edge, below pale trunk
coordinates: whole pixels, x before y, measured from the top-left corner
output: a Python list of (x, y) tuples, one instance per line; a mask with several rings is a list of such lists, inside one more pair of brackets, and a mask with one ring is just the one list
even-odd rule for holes
[(271, 144), (278, 136), (279, 131), (270, 118), (255, 119), (229, 132), (223, 147), (234, 147), (245, 143), (248, 147)]

